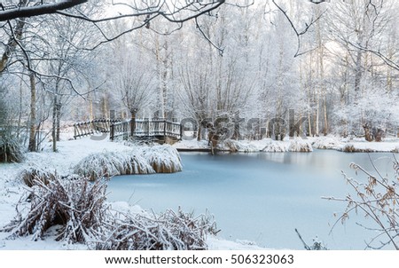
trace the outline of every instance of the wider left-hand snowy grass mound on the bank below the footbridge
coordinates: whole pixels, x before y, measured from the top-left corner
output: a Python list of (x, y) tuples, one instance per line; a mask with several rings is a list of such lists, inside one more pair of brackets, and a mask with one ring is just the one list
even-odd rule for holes
[(155, 171), (136, 151), (90, 154), (74, 167), (74, 173), (94, 181), (100, 177), (130, 174), (152, 174)]

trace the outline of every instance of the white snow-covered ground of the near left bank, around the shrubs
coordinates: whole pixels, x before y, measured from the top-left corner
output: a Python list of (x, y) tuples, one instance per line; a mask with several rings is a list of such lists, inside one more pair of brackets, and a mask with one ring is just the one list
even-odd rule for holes
[[(23, 169), (28, 167), (41, 167), (42, 169), (56, 169), (61, 175), (71, 173), (74, 166), (90, 154), (114, 152), (123, 154), (132, 150), (131, 146), (105, 140), (92, 140), (82, 138), (59, 142), (59, 152), (51, 152), (51, 145), (43, 149), (41, 153), (28, 153), (22, 163), (0, 164), (0, 228), (10, 223), (16, 216), (16, 204), (20, 201), (26, 185), (18, 176)], [(130, 209), (139, 213), (145, 211), (137, 206), (131, 207), (128, 203), (111, 203), (117, 209)], [(151, 209), (151, 208), (148, 208)], [(145, 212), (144, 212), (145, 213)], [(217, 219), (216, 219), (217, 220)], [(44, 240), (34, 241), (31, 237), (7, 239), (9, 233), (0, 233), (0, 249), (85, 249), (84, 245), (67, 244), (54, 240), (54, 234), (49, 232)], [(210, 249), (260, 249), (251, 242), (220, 240), (209, 237), (207, 245)]]

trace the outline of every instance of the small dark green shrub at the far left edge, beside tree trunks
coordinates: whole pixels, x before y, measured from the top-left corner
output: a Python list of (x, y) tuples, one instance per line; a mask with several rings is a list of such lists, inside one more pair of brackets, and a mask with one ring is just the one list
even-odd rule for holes
[(24, 157), (18, 140), (3, 134), (0, 133), (0, 162), (22, 162)]

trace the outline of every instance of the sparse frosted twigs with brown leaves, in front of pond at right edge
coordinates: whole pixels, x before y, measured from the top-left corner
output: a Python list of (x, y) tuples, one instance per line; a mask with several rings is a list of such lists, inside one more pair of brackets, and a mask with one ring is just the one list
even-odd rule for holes
[[(351, 214), (363, 213), (364, 217), (371, 220), (372, 227), (364, 227), (375, 234), (366, 244), (367, 248), (384, 248), (391, 244), (399, 249), (399, 162), (393, 159), (395, 176), (391, 179), (383, 177), (374, 166), (376, 174), (367, 171), (359, 165), (352, 163), (350, 167), (364, 174), (367, 179), (364, 182), (357, 181), (343, 173), (347, 184), (356, 194), (348, 194), (345, 198), (329, 197), (328, 200), (343, 201), (346, 204), (345, 211), (340, 215), (335, 225), (345, 223)], [(334, 226), (335, 226), (334, 225)], [(385, 239), (384, 239), (385, 237)]]

